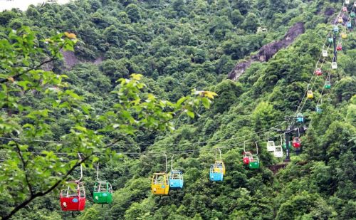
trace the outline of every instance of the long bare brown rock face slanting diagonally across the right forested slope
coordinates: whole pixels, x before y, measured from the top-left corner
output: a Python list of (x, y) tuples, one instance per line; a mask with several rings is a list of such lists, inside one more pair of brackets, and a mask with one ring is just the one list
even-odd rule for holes
[(275, 41), (263, 46), (256, 55), (250, 56), (246, 61), (238, 63), (228, 75), (231, 80), (238, 80), (239, 77), (245, 72), (246, 68), (251, 66), (253, 62), (266, 62), (273, 57), (279, 50), (289, 46), (295, 38), (304, 33), (304, 23), (295, 23), (281, 41)]

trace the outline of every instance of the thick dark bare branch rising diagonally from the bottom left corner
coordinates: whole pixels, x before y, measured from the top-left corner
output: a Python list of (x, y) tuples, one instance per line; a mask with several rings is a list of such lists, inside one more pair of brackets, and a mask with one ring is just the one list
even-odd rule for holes
[(53, 184), (52, 187), (50, 187), (49, 189), (47, 189), (45, 192), (37, 192), (35, 194), (33, 194), (31, 197), (29, 197), (28, 199), (26, 199), (25, 201), (23, 201), (21, 204), (17, 205), (15, 207), (15, 209), (13, 209), (8, 215), (3, 216), (2, 219), (3, 220), (7, 220), (10, 219), (11, 216), (13, 216), (14, 214), (16, 214), (17, 211), (19, 211), (20, 209), (23, 209), (25, 206), (27, 206), (33, 199), (36, 199), (37, 197), (43, 197), (46, 194), (50, 193), (53, 191), (53, 189), (56, 189), (56, 187), (58, 187), (59, 184), (61, 184), (61, 182), (63, 182), (64, 179), (67, 179), (67, 177), (69, 176), (69, 174), (71, 174), (73, 172), (73, 170), (78, 167), (80, 164), (82, 164), (83, 162), (85, 162), (87, 159), (89, 159), (91, 156), (93, 156), (93, 153), (88, 155), (88, 157), (85, 157), (84, 159), (82, 159), (80, 162), (78, 162), (78, 164), (75, 164), (67, 173), (66, 175), (64, 175), (60, 180), (58, 180), (55, 184)]

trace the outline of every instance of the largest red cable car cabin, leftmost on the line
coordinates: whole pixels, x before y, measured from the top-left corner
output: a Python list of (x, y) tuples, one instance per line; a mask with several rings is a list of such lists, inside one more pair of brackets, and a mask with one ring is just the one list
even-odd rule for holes
[(60, 201), (63, 211), (83, 211), (85, 188), (81, 182), (66, 182), (61, 190)]

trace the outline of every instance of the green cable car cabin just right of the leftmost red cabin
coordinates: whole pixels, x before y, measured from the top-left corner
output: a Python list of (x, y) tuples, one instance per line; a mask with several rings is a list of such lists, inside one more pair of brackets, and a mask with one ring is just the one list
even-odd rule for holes
[(97, 181), (94, 185), (93, 200), (96, 204), (112, 203), (112, 187), (109, 182)]

